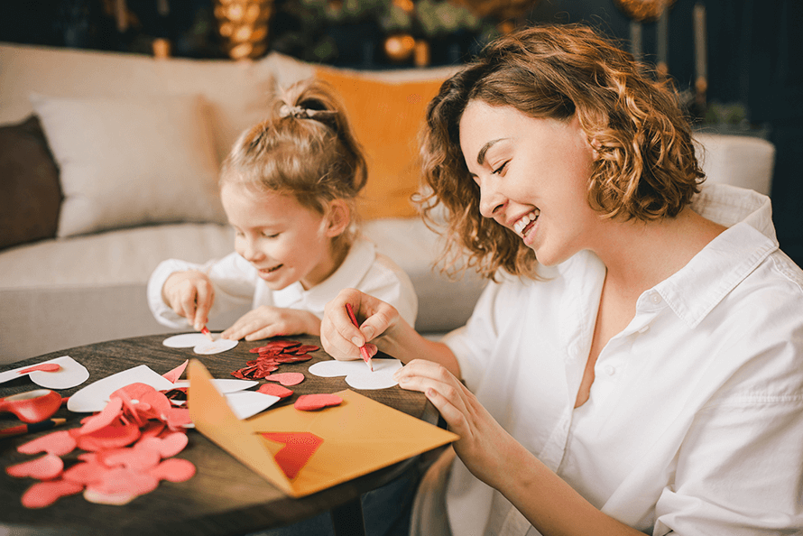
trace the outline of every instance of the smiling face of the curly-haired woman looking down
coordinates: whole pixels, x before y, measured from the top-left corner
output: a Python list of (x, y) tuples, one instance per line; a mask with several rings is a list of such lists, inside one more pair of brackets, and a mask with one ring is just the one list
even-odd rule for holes
[(561, 123), (473, 100), (460, 119), (460, 147), (482, 215), (515, 231), (540, 263), (594, 244), (600, 218), (587, 187), (595, 154), (577, 116)]

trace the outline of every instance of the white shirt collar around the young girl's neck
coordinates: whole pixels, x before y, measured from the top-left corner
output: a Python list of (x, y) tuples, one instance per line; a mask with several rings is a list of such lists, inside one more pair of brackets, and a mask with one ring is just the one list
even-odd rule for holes
[(287, 307), (293, 303), (304, 301), (313, 310), (316, 307), (323, 310), (324, 306), (337, 296), (339, 291), (356, 287), (374, 265), (375, 259), (374, 244), (365, 238), (357, 238), (349, 248), (346, 259), (327, 279), (319, 282), (309, 291), (305, 291), (300, 282), (294, 282), (281, 291), (275, 291), (273, 302), (277, 307)]

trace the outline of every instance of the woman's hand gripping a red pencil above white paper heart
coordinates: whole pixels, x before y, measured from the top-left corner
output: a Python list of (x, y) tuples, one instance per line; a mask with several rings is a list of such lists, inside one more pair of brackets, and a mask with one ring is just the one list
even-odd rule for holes
[[(346, 312), (351, 303), (360, 327), (357, 328)], [(378, 348), (368, 341), (388, 332), (399, 322), (399, 311), (383, 300), (356, 289), (344, 289), (328, 302), (320, 323), (320, 342), (328, 354), (342, 361), (361, 359), (360, 347), (365, 345), (374, 356)]]

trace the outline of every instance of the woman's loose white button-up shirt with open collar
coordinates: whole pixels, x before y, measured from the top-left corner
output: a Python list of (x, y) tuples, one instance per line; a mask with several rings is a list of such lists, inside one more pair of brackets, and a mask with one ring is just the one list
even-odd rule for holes
[[(615, 519), (655, 535), (800, 533), (803, 271), (779, 250), (769, 198), (711, 185), (693, 208), (729, 228), (641, 294), (579, 408), (605, 279), (590, 252), (542, 269), (547, 281), (489, 284), (444, 342), (504, 429)], [(459, 458), (446, 494), (455, 536), (538, 534)]]

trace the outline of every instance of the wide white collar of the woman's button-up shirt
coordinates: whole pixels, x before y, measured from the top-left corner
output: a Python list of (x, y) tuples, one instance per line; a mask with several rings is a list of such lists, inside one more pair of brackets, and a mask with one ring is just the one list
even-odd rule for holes
[(778, 241), (770, 199), (750, 189), (708, 185), (692, 200), (691, 208), (728, 228), (654, 291), (694, 328), (778, 249)]

